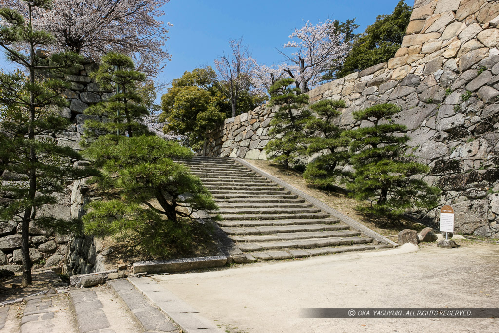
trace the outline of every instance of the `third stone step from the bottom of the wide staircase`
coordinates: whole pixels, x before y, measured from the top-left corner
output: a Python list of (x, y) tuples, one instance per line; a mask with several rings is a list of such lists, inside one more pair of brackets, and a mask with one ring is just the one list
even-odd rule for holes
[(280, 242), (320, 238), (346, 238), (360, 236), (359, 231), (301, 231), (258, 236), (232, 236), (231, 239), (238, 243)]

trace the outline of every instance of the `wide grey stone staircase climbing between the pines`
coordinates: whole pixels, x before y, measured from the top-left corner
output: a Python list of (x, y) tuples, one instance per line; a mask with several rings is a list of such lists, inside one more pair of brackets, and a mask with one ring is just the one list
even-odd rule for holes
[(196, 156), (177, 162), (188, 165), (213, 194), (223, 219), (217, 223), (234, 242), (229, 253), (236, 262), (392, 247), (352, 230), (234, 159)]

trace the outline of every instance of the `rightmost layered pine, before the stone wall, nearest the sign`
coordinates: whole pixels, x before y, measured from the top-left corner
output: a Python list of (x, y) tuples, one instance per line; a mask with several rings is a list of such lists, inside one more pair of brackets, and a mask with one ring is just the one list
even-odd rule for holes
[(407, 127), (390, 121), (390, 116), (399, 111), (393, 104), (355, 111), (356, 120), (371, 121), (373, 126), (344, 132), (352, 139), (350, 163), (355, 168), (348, 188), (356, 199), (370, 200), (370, 206), (359, 208), (376, 216), (399, 216), (414, 206), (433, 208), (440, 192), (412, 177), (427, 173), (429, 168), (404, 155), (409, 141), (403, 134)]

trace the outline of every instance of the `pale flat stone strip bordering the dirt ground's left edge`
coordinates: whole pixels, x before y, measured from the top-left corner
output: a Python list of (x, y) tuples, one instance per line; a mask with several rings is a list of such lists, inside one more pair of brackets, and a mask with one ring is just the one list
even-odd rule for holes
[(163, 310), (172, 319), (182, 332), (185, 333), (224, 333), (213, 323), (199, 316), (199, 312), (172, 292), (159, 285), (151, 278), (129, 278), (135, 286), (153, 304)]

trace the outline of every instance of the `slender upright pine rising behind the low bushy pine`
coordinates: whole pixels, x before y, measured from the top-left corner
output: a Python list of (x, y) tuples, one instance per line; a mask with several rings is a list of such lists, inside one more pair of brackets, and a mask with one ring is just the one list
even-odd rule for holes
[(102, 133), (117, 133), (131, 137), (146, 132), (146, 126), (140, 120), (149, 114), (149, 110), (143, 94), (138, 92), (146, 76), (135, 70), (130, 57), (110, 52), (102, 57), (99, 70), (91, 76), (103, 89), (115, 93), (106, 101), (85, 109), (85, 114), (106, 117), (105, 121), (85, 121), (86, 136), (95, 138)]

